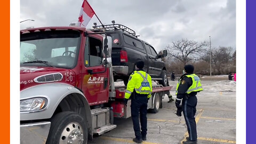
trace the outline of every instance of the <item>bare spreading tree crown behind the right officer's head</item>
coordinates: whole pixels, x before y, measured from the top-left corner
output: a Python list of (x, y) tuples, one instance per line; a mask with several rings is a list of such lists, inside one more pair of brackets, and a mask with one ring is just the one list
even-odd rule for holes
[(185, 66), (189, 61), (199, 60), (199, 55), (204, 52), (205, 47), (208, 45), (209, 43), (207, 42), (198, 43), (188, 39), (181, 39), (166, 46), (166, 50), (170, 57), (178, 59)]

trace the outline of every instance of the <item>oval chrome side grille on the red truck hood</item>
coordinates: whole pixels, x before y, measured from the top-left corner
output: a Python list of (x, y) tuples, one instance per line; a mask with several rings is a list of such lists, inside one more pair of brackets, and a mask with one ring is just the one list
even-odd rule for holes
[(47, 74), (38, 76), (34, 79), (36, 83), (49, 83), (49, 82), (58, 82), (61, 81), (63, 75), (61, 73)]

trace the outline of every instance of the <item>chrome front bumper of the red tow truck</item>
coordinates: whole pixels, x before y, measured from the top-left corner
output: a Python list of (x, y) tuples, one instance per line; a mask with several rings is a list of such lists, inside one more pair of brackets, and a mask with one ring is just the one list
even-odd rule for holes
[(20, 143), (46, 143), (51, 122), (38, 122), (20, 125)]

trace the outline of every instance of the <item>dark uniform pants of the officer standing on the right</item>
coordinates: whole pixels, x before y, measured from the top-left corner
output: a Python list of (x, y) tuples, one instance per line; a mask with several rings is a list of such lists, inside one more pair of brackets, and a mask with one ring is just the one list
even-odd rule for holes
[(196, 141), (197, 140), (197, 131), (196, 131), (196, 105), (197, 98), (196, 96), (189, 97), (188, 99), (182, 100), (182, 109), (183, 115), (185, 117), (189, 140)]

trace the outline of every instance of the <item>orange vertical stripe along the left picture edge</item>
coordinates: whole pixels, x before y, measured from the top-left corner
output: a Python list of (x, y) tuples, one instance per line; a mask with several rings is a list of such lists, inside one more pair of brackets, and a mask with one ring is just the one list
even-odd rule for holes
[(1, 143), (10, 143), (10, 0), (1, 1)]

